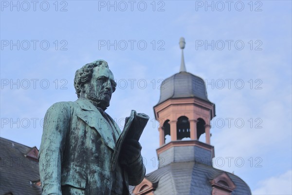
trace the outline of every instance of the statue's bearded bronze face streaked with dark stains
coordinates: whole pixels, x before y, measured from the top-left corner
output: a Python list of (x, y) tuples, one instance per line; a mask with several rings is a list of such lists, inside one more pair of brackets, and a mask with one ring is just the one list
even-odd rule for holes
[(94, 101), (102, 109), (110, 105), (114, 78), (110, 69), (96, 66), (92, 69), (90, 82), (85, 84), (85, 98)]

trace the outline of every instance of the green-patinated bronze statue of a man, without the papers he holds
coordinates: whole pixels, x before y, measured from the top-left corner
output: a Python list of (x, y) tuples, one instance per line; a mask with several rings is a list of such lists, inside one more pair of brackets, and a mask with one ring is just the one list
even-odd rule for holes
[[(124, 195), (128, 185), (145, 176), (141, 145), (135, 139), (123, 145), (111, 170), (111, 158), (121, 130), (104, 111), (116, 83), (108, 63), (96, 60), (77, 70), (78, 99), (57, 102), (47, 111), (39, 149), (42, 195)], [(125, 160), (131, 159), (131, 160)]]

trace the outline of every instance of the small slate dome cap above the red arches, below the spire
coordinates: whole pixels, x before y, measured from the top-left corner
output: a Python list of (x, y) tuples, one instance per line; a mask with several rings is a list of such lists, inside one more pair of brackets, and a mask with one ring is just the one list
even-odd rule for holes
[(202, 78), (188, 72), (180, 72), (166, 78), (160, 89), (158, 104), (169, 98), (200, 98), (210, 102), (207, 98), (205, 82)]

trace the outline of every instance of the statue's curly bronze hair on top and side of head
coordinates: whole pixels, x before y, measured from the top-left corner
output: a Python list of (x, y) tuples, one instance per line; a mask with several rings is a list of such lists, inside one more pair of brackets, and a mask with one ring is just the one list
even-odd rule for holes
[[(74, 78), (74, 88), (77, 94), (77, 97), (80, 97), (80, 93), (83, 90), (85, 83), (89, 82), (92, 77), (92, 69), (96, 66), (101, 66), (109, 68), (108, 62), (102, 59), (95, 60), (91, 63), (85, 64), (82, 68), (76, 70)], [(116, 82), (113, 83), (112, 91), (116, 89)]]

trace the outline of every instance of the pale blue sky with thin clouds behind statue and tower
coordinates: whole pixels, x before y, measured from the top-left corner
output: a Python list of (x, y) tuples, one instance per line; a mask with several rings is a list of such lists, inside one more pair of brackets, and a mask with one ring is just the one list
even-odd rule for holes
[(214, 166), (240, 176), (254, 194), (292, 193), (291, 1), (0, 3), (1, 137), (39, 148), (46, 110), (74, 101), (75, 71), (105, 59), (118, 83), (107, 112), (121, 126), (132, 109), (149, 115), (141, 144), (147, 173), (154, 171), (153, 106), (161, 79), (179, 71), (184, 37), (186, 69), (209, 83), (216, 104)]

